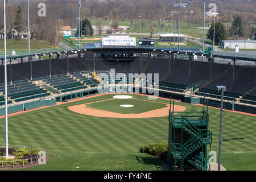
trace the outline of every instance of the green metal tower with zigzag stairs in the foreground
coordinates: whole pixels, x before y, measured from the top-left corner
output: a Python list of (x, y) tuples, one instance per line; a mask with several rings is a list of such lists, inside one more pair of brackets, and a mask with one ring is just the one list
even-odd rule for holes
[(208, 130), (208, 111), (174, 112), (170, 109), (169, 121), (170, 168), (184, 170), (187, 164), (190, 168), (209, 170), (207, 146), (212, 144), (212, 133)]

